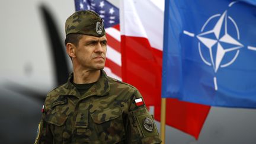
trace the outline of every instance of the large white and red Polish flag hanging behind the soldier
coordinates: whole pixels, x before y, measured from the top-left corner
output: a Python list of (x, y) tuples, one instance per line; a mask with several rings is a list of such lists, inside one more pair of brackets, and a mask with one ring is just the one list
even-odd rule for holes
[[(164, 2), (121, 1), (120, 28), (122, 79), (139, 89), (160, 121)], [(209, 110), (206, 105), (169, 98), (166, 122), (197, 139)]]

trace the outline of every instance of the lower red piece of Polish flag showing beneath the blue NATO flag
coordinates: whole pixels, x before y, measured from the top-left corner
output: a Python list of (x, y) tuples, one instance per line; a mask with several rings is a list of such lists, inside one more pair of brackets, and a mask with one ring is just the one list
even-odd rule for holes
[[(198, 139), (210, 106), (167, 98), (166, 123)], [(172, 117), (177, 116), (176, 119)], [(160, 120), (160, 116), (157, 118)]]

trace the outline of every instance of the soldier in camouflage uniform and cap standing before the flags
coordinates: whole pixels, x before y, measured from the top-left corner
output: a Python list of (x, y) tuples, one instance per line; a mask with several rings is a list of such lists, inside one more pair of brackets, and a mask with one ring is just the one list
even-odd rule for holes
[(103, 71), (103, 20), (77, 11), (65, 24), (73, 73), (47, 94), (35, 143), (161, 143), (139, 91)]

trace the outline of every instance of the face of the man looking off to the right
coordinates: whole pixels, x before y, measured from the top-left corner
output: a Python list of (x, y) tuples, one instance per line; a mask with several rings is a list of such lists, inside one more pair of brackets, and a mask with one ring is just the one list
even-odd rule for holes
[(105, 66), (107, 38), (84, 35), (76, 46), (78, 65), (89, 71), (100, 70)]

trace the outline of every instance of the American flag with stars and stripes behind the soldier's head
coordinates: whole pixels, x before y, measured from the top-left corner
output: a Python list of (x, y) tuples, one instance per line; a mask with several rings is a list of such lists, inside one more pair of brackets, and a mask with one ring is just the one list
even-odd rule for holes
[(75, 0), (75, 10), (95, 11), (103, 18), (108, 40), (104, 71), (121, 81), (119, 8), (105, 0)]

